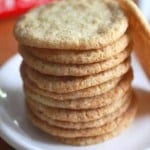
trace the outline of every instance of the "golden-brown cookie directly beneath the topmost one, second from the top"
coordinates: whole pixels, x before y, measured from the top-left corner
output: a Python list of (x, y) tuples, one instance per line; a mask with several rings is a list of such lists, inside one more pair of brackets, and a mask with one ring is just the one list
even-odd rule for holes
[(121, 53), (130, 42), (128, 34), (123, 35), (119, 40), (111, 45), (98, 50), (90, 51), (67, 51), (67, 50), (49, 50), (25, 45), (19, 46), (19, 51), (28, 51), (33, 56), (41, 58), (48, 62), (60, 64), (90, 64), (104, 61)]

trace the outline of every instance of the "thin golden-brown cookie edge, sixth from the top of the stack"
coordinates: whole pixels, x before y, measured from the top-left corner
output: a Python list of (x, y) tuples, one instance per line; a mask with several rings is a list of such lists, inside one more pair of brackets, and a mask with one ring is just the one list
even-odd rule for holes
[[(130, 90), (131, 89), (128, 89), (126, 92), (129, 92)], [(91, 97), (91, 98), (86, 98), (86, 99), (59, 101), (59, 100), (51, 99), (49, 97), (44, 97), (42, 95), (34, 93), (33, 91), (31, 91), (27, 88), (25, 89), (25, 95), (26, 95), (27, 99), (33, 99), (34, 101), (41, 103), (43, 105), (49, 106), (49, 107), (74, 109), (74, 110), (100, 108), (100, 107), (109, 105), (114, 101), (117, 101), (118, 99), (120, 99), (123, 96), (122, 91), (117, 94), (111, 93), (114, 97), (106, 98), (107, 94), (108, 93), (106, 93), (106, 94), (104, 93), (102, 95)]]

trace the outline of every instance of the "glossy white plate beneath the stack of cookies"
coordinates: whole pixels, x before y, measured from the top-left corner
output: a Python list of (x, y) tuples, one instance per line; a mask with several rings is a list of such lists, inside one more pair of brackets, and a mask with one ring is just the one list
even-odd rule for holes
[[(133, 58), (139, 113), (134, 123), (120, 136), (102, 144), (86, 147), (67, 146), (34, 128), (25, 115), (22, 82), (19, 75), (19, 55), (0, 70), (0, 87), (7, 97), (0, 101), (0, 136), (19, 150), (147, 150), (150, 148), (150, 83)], [(6, 95), (3, 95), (5, 97)]]

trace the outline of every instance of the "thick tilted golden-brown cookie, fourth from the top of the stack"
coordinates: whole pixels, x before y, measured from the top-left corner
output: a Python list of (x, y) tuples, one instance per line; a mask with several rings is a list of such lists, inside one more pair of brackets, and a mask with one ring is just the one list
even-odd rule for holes
[(111, 79), (121, 77), (129, 70), (129, 68), (130, 59), (127, 59), (116, 67), (99, 74), (83, 77), (56, 77), (41, 74), (24, 63), (21, 66), (21, 70), (23, 70), (29, 79), (39, 88), (55, 93), (68, 93), (102, 84)]

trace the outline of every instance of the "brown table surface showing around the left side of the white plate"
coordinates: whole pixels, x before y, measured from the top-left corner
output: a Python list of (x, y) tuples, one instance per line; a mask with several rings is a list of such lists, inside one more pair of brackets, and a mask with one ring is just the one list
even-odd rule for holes
[[(17, 42), (13, 36), (13, 27), (16, 19), (0, 21), (0, 66), (17, 52)], [(13, 150), (0, 138), (1, 150)]]

